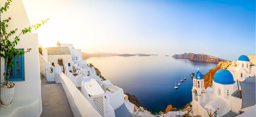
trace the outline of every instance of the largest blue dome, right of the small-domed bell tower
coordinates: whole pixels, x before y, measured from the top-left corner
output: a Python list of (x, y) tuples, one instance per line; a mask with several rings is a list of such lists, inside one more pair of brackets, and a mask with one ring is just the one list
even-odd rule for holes
[(229, 70), (220, 69), (215, 73), (213, 81), (219, 84), (233, 84), (234, 78)]

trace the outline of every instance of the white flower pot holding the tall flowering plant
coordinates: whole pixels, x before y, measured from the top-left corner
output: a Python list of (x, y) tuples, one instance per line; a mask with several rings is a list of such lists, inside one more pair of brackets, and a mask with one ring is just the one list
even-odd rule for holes
[(15, 83), (12, 87), (0, 87), (0, 98), (2, 107), (11, 105), (12, 98), (14, 97)]

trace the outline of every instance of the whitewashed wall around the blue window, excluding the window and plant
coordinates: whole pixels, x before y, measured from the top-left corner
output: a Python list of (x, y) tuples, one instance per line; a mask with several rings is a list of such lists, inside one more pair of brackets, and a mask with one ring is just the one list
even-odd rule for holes
[[(4, 5), (6, 0), (0, 0), (0, 6)], [(30, 25), (24, 5), (22, 0), (14, 0), (11, 2), (10, 8), (7, 12), (1, 14), (1, 20), (11, 18), (8, 22), (7, 30), (13, 30), (18, 28), (16, 34), (9, 37), (9, 39), (14, 39), (19, 35), (22, 29), (28, 28)], [(46, 18), (47, 19), (47, 18)], [(38, 56), (38, 34), (28, 33), (26, 35), (20, 36), (20, 41), (16, 46), (16, 49), (24, 49), (26, 51), (28, 48), (32, 50), (24, 55), (24, 80), (23, 81), (12, 81), (15, 82), (15, 94), (14, 99), (28, 99), (37, 98), (40, 101), (38, 106), (34, 107), (37, 115), (40, 116), (42, 112), (42, 102), (41, 102), (41, 80), (40, 80), (40, 62)], [(1, 58), (0, 64), (0, 81), (4, 82), (4, 59)], [(34, 105), (33, 105), (34, 106)], [(14, 110), (19, 111), (19, 110)], [(15, 113), (15, 112), (12, 112)], [(29, 111), (27, 111), (29, 113)], [(32, 115), (30, 115), (32, 116)]]

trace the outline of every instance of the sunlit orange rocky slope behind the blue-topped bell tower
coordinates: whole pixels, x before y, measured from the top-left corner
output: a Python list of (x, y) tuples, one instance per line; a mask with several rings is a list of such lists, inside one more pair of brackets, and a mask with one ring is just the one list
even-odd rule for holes
[(215, 73), (219, 70), (222, 69), (223, 66), (225, 67), (225, 69), (227, 69), (227, 67), (232, 64), (231, 61), (221, 61), (218, 63), (217, 67), (214, 67), (212, 69), (209, 70), (209, 72), (206, 75), (203, 75), (203, 77), (205, 78), (205, 88), (207, 89), (207, 87), (212, 86), (212, 79), (214, 78)]

